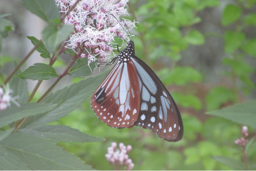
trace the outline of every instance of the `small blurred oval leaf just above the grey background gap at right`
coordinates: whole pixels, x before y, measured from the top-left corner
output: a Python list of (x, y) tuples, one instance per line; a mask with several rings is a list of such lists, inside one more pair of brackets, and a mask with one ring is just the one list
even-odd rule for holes
[(194, 45), (204, 44), (204, 35), (197, 30), (191, 30), (184, 39)]

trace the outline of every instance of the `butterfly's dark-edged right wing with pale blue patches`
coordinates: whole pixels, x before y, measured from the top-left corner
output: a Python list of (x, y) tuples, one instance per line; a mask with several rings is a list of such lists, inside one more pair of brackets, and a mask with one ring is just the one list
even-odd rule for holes
[(169, 142), (183, 136), (183, 123), (176, 103), (157, 75), (136, 56), (131, 57), (139, 77), (140, 110), (134, 125), (150, 129)]

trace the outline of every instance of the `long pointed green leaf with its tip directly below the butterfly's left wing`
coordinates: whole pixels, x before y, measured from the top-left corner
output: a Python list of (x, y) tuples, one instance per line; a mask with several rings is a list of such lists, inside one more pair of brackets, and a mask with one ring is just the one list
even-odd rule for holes
[(63, 125), (44, 125), (35, 129), (20, 129), (25, 134), (35, 135), (52, 142), (100, 142), (103, 141), (101, 138), (90, 136), (78, 129), (73, 129)]

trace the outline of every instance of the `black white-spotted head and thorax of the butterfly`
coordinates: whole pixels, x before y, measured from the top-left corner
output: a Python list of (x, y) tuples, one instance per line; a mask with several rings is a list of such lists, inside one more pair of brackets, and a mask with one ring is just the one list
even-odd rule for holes
[(122, 62), (128, 62), (130, 60), (130, 57), (135, 55), (134, 51), (134, 42), (130, 40), (126, 46), (126, 48), (123, 51), (119, 52), (119, 55), (117, 56), (117, 59)]

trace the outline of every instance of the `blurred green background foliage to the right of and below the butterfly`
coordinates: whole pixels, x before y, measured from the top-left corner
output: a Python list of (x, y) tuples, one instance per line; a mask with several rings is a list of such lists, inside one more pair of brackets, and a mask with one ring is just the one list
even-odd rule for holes
[[(234, 143), (241, 136), (241, 125), (204, 113), (245, 101), (252, 94), (254, 82), (251, 75), (255, 66), (248, 59), (256, 57), (256, 39), (247, 35), (245, 30), (255, 30), (255, 13), (250, 11), (256, 7), (256, 1), (130, 0), (128, 5), (129, 19), (139, 22), (137, 29), (133, 30), (136, 55), (149, 64), (169, 87), (182, 112), (184, 138), (170, 143), (139, 127), (108, 127), (98, 120), (87, 100), (59, 123), (106, 141), (60, 145), (99, 170), (115, 169), (104, 156), (111, 142), (132, 145), (129, 156), (135, 164), (134, 170), (245, 169), (243, 153)], [(222, 10), (218, 22), (224, 31), (211, 35), (223, 40), (223, 49), (218, 50), (225, 54), (221, 66), (224, 72), (218, 75), (219, 79), (215, 78), (219, 83), (211, 86), (204, 80), (208, 73), (179, 65), (184, 58), (182, 51), (206, 42), (207, 31), (202, 33), (195, 26), (204, 22), (199, 14), (210, 9)], [(223, 77), (231, 82), (231, 86), (221, 83)], [(249, 138), (255, 131), (249, 127)], [(249, 169), (255, 169), (255, 153), (256, 143), (252, 141), (248, 151)], [(239, 161), (242, 168), (230, 167), (233, 160)]]

